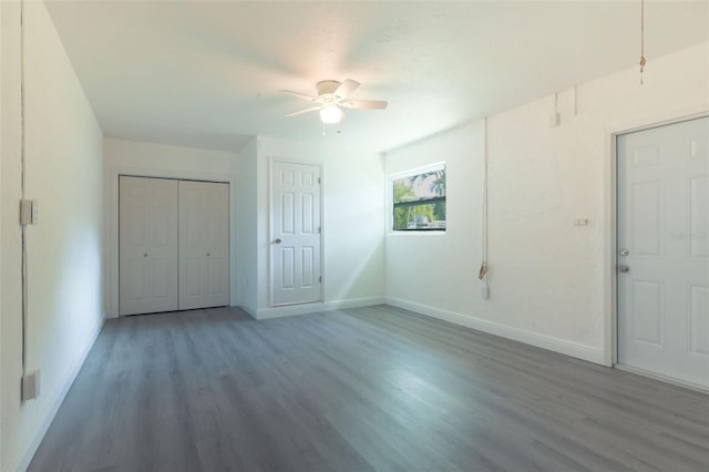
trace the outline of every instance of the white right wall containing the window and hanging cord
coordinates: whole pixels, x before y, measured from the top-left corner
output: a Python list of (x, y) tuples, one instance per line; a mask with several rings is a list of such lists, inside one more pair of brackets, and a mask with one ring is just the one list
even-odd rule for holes
[[(390, 152), (388, 174), (445, 160), (449, 229), (387, 235), (388, 300), (610, 361), (612, 132), (709, 111), (709, 43), (490, 117), (490, 300), (480, 296), (483, 125)], [(573, 218), (588, 226), (573, 226)], [(415, 276), (412, 276), (415, 274)]]

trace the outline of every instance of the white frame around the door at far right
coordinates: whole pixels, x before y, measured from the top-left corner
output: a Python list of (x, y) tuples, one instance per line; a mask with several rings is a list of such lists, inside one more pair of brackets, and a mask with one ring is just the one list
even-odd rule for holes
[[(604, 216), (602, 222), (602, 250), (604, 270), (604, 342), (603, 358), (608, 367), (618, 365), (618, 294), (617, 294), (617, 238), (618, 228), (616, 225), (617, 213), (617, 137), (621, 134), (649, 130), (653, 127), (681, 123), (684, 121), (709, 116), (709, 110), (699, 107), (676, 113), (646, 116), (637, 120), (629, 120), (609, 125), (605, 130), (606, 150), (608, 156), (604, 160)], [(630, 369), (628, 369), (630, 370)], [(659, 378), (659, 376), (658, 376)], [(670, 379), (664, 379), (669, 380)], [(680, 383), (674, 381), (675, 383)]]

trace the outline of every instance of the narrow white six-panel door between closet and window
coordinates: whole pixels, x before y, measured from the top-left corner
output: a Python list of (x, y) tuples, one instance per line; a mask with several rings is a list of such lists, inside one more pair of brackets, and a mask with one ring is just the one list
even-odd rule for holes
[(321, 300), (320, 167), (271, 166), (271, 305)]

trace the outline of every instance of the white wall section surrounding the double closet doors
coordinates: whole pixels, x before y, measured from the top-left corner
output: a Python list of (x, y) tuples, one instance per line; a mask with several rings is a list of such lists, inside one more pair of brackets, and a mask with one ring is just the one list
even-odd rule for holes
[[(106, 254), (106, 307), (109, 317), (119, 316), (119, 175), (189, 178), (229, 183), (229, 247), (237, 237), (236, 175), (238, 154), (223, 151), (141, 143), (106, 137), (104, 188)], [(238, 305), (236, 252), (230, 250), (229, 283), (232, 305)]]

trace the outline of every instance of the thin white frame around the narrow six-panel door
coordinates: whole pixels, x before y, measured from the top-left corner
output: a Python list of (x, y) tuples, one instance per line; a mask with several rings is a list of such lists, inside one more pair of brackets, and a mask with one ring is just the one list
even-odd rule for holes
[(320, 276), (322, 277), (322, 283), (320, 284), (320, 299), (317, 301), (310, 301), (307, 304), (299, 305), (312, 305), (312, 304), (322, 304), (325, 301), (325, 284), (327, 278), (325, 277), (325, 170), (321, 162), (314, 161), (299, 161), (299, 160), (290, 160), (282, 157), (269, 157), (268, 158), (268, 307), (280, 307), (279, 305), (274, 304), (274, 277), (271, 274), (273, 269), (273, 258), (274, 252), (271, 250), (271, 242), (274, 240), (274, 165), (276, 163), (284, 164), (301, 164), (301, 165), (312, 165), (320, 170)]

